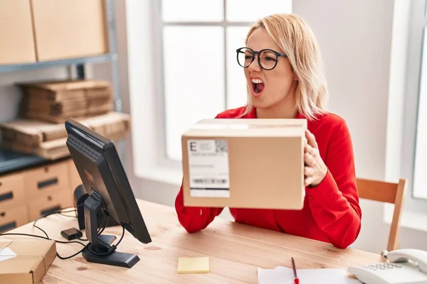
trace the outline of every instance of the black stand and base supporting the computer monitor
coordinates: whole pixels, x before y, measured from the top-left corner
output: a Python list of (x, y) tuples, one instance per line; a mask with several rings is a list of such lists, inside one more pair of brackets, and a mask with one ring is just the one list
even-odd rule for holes
[[(131, 268), (139, 261), (139, 257), (132, 253), (120, 253), (111, 246), (115, 236), (97, 235), (97, 211), (103, 207), (102, 197), (97, 192), (85, 200), (85, 230), (86, 238), (90, 242), (88, 249), (83, 251), (83, 257), (88, 262), (107, 264)], [(95, 253), (93, 253), (93, 252)], [(98, 254), (99, 253), (99, 254)]]

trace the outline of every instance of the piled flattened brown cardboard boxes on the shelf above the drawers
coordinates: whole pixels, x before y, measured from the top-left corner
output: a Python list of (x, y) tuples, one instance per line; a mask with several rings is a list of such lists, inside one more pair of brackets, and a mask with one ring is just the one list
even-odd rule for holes
[(19, 84), (21, 117), (0, 123), (1, 147), (49, 160), (69, 156), (64, 122), (76, 119), (111, 140), (130, 129), (130, 115), (113, 111), (112, 88), (103, 80)]

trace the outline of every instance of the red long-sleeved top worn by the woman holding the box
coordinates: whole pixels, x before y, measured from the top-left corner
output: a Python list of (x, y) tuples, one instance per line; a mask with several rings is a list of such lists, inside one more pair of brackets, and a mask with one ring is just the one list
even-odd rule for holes
[[(234, 119), (243, 107), (223, 111), (216, 119)], [(255, 110), (243, 116), (255, 119)], [(302, 119), (297, 114), (297, 119)], [(356, 187), (352, 140), (345, 121), (327, 113), (315, 121), (307, 121), (315, 135), (320, 155), (328, 171), (317, 187), (305, 188), (302, 210), (233, 209), (236, 222), (263, 227), (287, 234), (304, 236), (346, 248), (357, 239), (362, 211)], [(175, 200), (176, 213), (182, 226), (193, 233), (206, 228), (223, 208), (184, 207), (182, 185)]]

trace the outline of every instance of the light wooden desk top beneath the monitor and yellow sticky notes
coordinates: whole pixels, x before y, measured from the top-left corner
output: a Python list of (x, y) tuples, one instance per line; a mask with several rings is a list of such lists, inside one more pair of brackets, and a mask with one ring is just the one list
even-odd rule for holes
[[(151, 244), (141, 244), (130, 233), (117, 251), (135, 253), (141, 260), (133, 268), (118, 268), (88, 263), (78, 255), (70, 260), (56, 258), (43, 283), (258, 283), (257, 268), (346, 268), (352, 265), (383, 262), (379, 254), (356, 249), (337, 249), (330, 244), (291, 236), (216, 218), (208, 228), (188, 234), (179, 224), (173, 207), (138, 200), (150, 234)], [(78, 227), (75, 218), (60, 215), (41, 219), (38, 225), (53, 239), (63, 239), (60, 231)], [(11, 232), (41, 234), (32, 224)], [(107, 234), (122, 234), (120, 227), (105, 229)], [(3, 236), (0, 239), (26, 238)], [(63, 239), (64, 240), (64, 239)], [(80, 250), (78, 244), (57, 244), (61, 256)], [(211, 273), (176, 273), (179, 257), (209, 256)]]

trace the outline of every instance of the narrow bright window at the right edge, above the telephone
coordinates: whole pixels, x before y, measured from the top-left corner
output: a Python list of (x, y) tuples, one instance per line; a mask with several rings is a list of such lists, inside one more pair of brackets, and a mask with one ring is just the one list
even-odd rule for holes
[(426, 212), (427, 16), (426, 1), (411, 2), (404, 117), (402, 176), (408, 178), (406, 207)]

